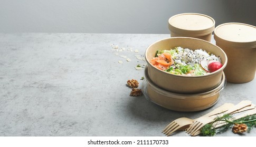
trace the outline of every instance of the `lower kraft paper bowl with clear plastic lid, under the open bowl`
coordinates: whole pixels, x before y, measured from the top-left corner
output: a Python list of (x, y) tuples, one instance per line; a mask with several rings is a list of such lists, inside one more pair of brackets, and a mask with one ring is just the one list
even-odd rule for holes
[(179, 94), (166, 91), (153, 83), (148, 76), (148, 68), (145, 68), (144, 81), (141, 90), (147, 100), (158, 104), (161, 107), (175, 111), (200, 111), (214, 106), (219, 100), (220, 92), (226, 86), (224, 72), (222, 72), (221, 82), (210, 91), (192, 95)]

